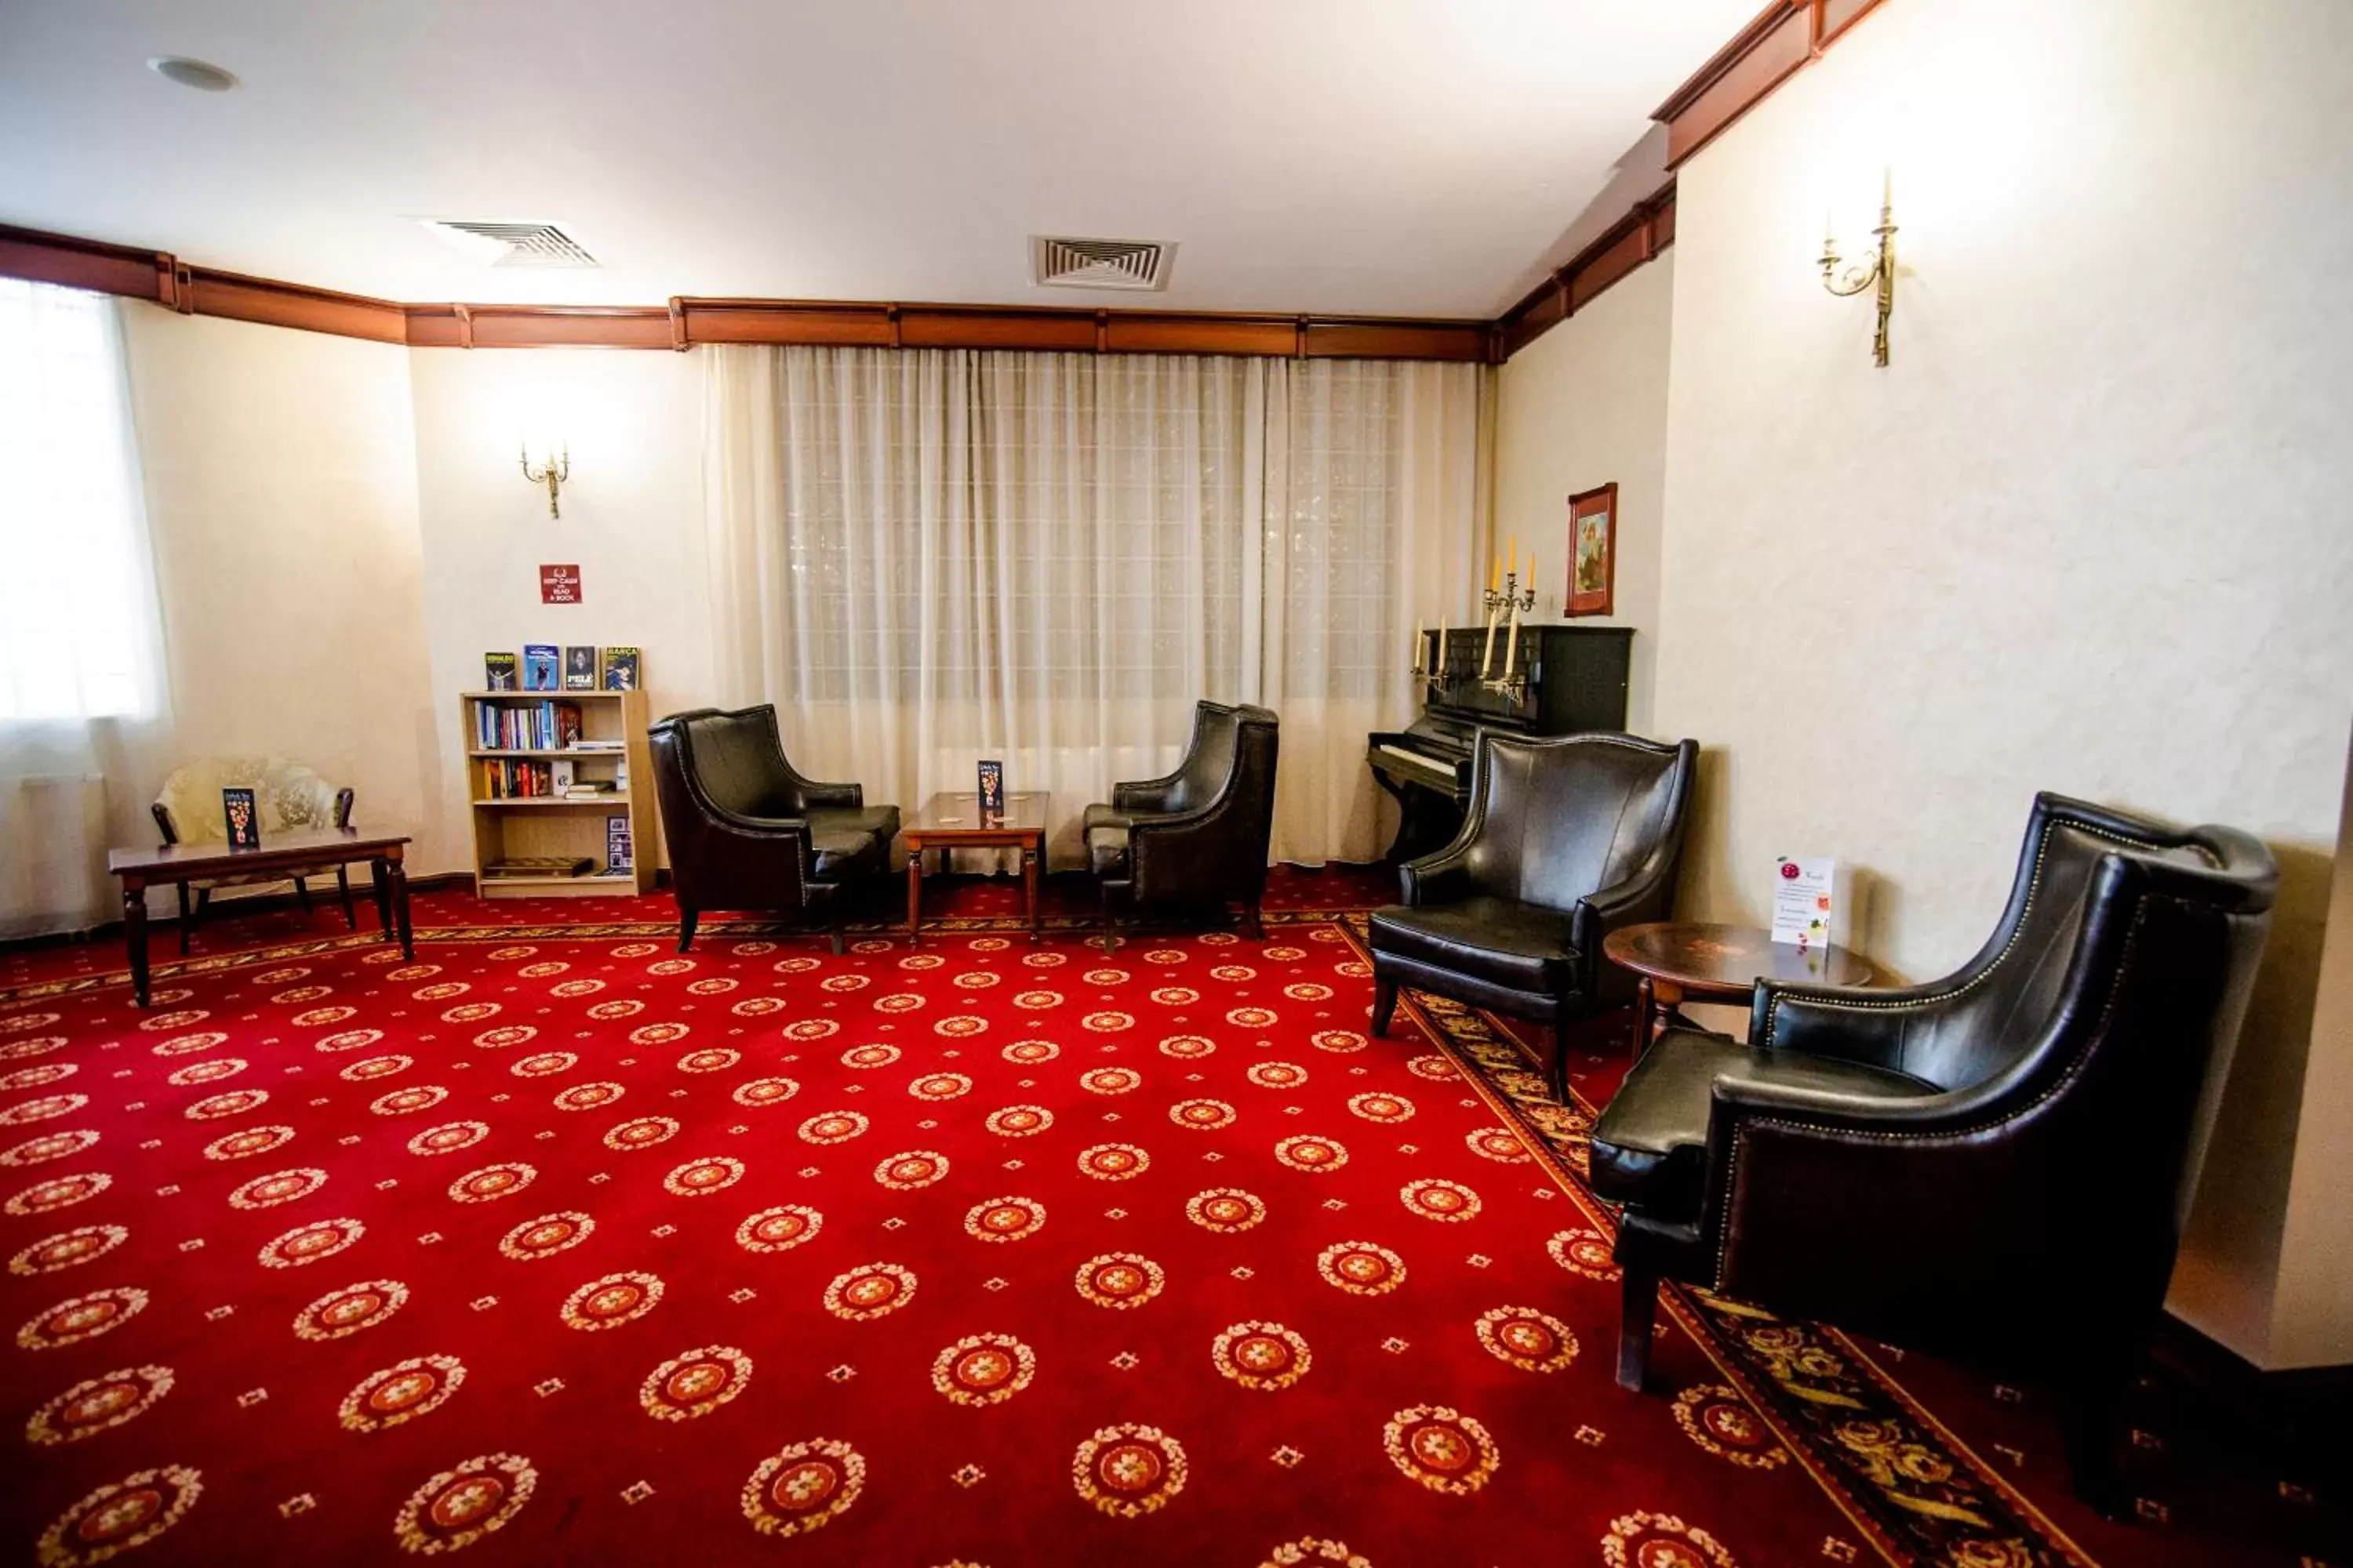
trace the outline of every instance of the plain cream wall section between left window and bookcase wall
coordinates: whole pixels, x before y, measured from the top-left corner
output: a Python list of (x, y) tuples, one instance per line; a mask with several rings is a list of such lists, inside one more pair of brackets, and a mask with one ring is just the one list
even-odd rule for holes
[(409, 353), (146, 303), (122, 322), (174, 759), (296, 757), (358, 792), (355, 820), (414, 827), (412, 867), (456, 865), (416, 630)]

